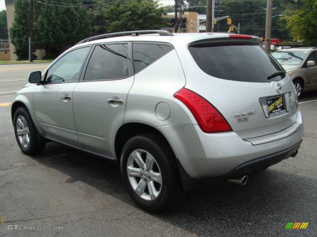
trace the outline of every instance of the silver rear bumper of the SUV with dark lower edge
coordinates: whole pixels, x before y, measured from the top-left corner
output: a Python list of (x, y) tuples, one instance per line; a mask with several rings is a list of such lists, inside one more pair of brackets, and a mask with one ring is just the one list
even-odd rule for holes
[(301, 124), (299, 129), (288, 137), (258, 145), (235, 132), (204, 133), (198, 125), (164, 125), (157, 129), (167, 138), (189, 177), (235, 177), (276, 164), (298, 149), (304, 127), (301, 112), (294, 116), (294, 122)]

